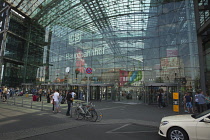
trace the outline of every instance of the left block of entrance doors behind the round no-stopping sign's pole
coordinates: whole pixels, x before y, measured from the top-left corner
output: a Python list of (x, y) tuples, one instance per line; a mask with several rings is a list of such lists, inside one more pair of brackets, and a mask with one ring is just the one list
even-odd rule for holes
[[(113, 90), (113, 84), (90, 84), (89, 100), (115, 100), (116, 93)], [(75, 99), (86, 100), (87, 97), (87, 84), (41, 84), (34, 86), (33, 84), (22, 84), (24, 92), (30, 92), (32, 88), (48, 91), (59, 90), (59, 93), (65, 94), (67, 91), (72, 90), (76, 93)]]

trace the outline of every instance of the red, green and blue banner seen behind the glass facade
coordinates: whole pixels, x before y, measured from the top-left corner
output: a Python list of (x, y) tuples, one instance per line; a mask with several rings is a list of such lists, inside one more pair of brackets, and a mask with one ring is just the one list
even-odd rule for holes
[(142, 80), (142, 71), (119, 70), (119, 76), (119, 86), (131, 85), (134, 82)]

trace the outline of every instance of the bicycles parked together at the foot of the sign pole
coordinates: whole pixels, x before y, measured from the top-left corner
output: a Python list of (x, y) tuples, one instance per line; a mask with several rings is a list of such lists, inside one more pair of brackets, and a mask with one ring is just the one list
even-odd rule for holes
[(81, 102), (76, 102), (77, 107), (74, 110), (74, 116), (77, 120), (85, 119), (88, 121), (96, 122), (101, 121), (102, 113), (100, 111), (96, 111), (95, 105), (91, 102), (90, 105), (82, 104)]

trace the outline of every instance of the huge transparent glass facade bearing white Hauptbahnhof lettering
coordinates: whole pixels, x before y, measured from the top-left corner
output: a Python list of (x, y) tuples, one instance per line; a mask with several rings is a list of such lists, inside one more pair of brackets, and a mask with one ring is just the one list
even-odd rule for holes
[[(129, 99), (128, 94), (137, 99), (147, 83), (199, 88), (191, 0), (6, 1), (37, 23), (10, 24), (13, 33), (21, 28), (16, 34), (26, 38), (8, 35), (6, 48), (24, 62), (15, 66), (23, 82), (84, 85), (89, 77), (92, 85), (104, 86), (93, 86), (94, 91), (109, 85), (113, 99)], [(92, 74), (86, 74), (87, 67)]]

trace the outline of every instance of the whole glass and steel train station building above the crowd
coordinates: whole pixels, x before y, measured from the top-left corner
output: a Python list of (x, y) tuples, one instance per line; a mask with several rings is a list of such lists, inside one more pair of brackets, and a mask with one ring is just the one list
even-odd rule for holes
[[(209, 0), (0, 0), (1, 85), (153, 103), (210, 94)], [(91, 68), (91, 73), (87, 73)]]

